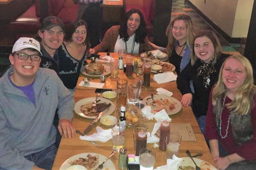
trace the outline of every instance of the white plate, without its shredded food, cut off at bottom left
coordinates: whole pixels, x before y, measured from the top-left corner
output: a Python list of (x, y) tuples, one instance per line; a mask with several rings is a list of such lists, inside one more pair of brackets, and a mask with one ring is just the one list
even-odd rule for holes
[[(60, 167), (60, 170), (67, 170), (67, 168), (71, 167), (71, 165), (69, 164), (70, 161), (74, 161), (79, 158), (87, 158), (88, 154), (90, 154), (91, 156), (99, 155), (99, 164), (101, 164), (107, 158), (106, 156), (98, 153), (80, 153), (80, 154), (71, 156), (69, 159), (64, 161), (64, 163)], [(108, 161), (106, 161), (105, 164), (103, 164), (102, 170), (105, 170), (106, 168), (108, 168), (109, 170), (116, 170), (115, 165), (110, 159), (108, 159)]]

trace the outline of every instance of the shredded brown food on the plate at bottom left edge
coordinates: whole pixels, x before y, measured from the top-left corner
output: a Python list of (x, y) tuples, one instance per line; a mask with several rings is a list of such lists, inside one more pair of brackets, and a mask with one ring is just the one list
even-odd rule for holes
[(87, 158), (79, 158), (69, 162), (70, 165), (82, 165), (87, 170), (95, 170), (99, 165), (99, 155), (87, 155)]

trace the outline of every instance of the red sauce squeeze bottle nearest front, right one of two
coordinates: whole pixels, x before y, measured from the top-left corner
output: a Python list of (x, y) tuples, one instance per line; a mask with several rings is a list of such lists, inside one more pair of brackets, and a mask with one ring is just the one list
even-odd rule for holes
[(169, 143), (169, 135), (170, 135), (170, 124), (168, 121), (164, 120), (160, 126), (160, 141), (159, 141), (159, 149), (166, 151), (166, 144)]

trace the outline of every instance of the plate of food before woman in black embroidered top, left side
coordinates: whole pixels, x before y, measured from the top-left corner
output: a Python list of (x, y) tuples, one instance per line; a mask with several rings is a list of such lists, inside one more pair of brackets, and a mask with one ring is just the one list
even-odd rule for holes
[(99, 77), (110, 74), (110, 66), (101, 64), (99, 62), (92, 62), (84, 67), (81, 67), (80, 72), (85, 76)]

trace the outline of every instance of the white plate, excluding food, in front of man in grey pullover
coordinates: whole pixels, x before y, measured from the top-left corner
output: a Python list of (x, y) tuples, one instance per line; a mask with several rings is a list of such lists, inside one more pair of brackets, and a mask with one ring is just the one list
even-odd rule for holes
[[(84, 118), (95, 119), (96, 116), (85, 116), (84, 113), (82, 113), (80, 110), (82, 105), (92, 103), (95, 101), (95, 99), (96, 99), (95, 97), (88, 97), (88, 98), (81, 99), (78, 102), (76, 102), (75, 108), (74, 108), (74, 111), (76, 112), (76, 114), (78, 114), (79, 116), (84, 117)], [(103, 111), (102, 116), (110, 115), (111, 113), (113, 113), (113, 111), (115, 110), (115, 105), (113, 102), (111, 102), (108, 99), (102, 98), (102, 97), (99, 97), (98, 100), (100, 100), (98, 103), (106, 103), (106, 104), (111, 103), (111, 106)]]

